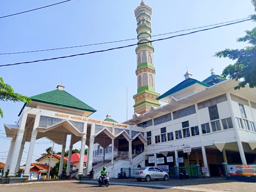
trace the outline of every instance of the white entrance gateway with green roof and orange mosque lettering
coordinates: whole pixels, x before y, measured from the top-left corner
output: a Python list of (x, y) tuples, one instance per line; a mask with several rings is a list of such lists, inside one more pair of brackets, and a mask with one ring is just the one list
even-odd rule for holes
[[(67, 135), (70, 135), (70, 154), (68, 155), (67, 170), (70, 169), (73, 145), (81, 141), (81, 156), (84, 156), (84, 149), (88, 146), (87, 168), (83, 170), (83, 158), (80, 158), (78, 176), (88, 174), (91, 170), (93, 163), (93, 146), (96, 143), (103, 149), (110, 144), (118, 150), (126, 148), (126, 159), (132, 162), (133, 126), (88, 118), (88, 116), (96, 112), (96, 110), (63, 89), (63, 84), (59, 84), (56, 90), (30, 97), (32, 102), (24, 105), (20, 111), (20, 119), (17, 124), (4, 124), (6, 136), (12, 138), (4, 168), (4, 172), (6, 172), (7, 169), (10, 170), (9, 177), (13, 177), (15, 173), (18, 172), (25, 142), (30, 142), (30, 146), (24, 177), (30, 176), (30, 164), (32, 162), (35, 142), (37, 139), (44, 137), (56, 144), (62, 145), (60, 160), (60, 167), (62, 167), (66, 138)], [(136, 131), (135, 133), (138, 134), (140, 132)], [(142, 139), (139, 144), (145, 144), (145, 138), (140, 138)], [(110, 166), (113, 167), (114, 150), (112, 150), (110, 162)], [(61, 172), (62, 170), (60, 169), (58, 174), (60, 175)]]

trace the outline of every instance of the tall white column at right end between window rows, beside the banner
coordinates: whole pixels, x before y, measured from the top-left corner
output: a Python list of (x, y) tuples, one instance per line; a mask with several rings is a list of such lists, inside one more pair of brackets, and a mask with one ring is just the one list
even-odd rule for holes
[(228, 99), (228, 105), (230, 106), (231, 120), (232, 120), (232, 124), (233, 124), (233, 127), (234, 127), (234, 132), (235, 132), (235, 135), (236, 135), (236, 142), (237, 142), (238, 150), (239, 150), (239, 153), (240, 153), (242, 164), (246, 165), (247, 162), (246, 162), (246, 158), (245, 158), (245, 155), (244, 155), (244, 149), (243, 149), (243, 146), (242, 146), (242, 142), (241, 142), (241, 139), (240, 139), (238, 128), (236, 126), (236, 118), (234, 116), (234, 111), (233, 111), (233, 107), (232, 107), (230, 93), (227, 93), (226, 95), (227, 95), (227, 99)]

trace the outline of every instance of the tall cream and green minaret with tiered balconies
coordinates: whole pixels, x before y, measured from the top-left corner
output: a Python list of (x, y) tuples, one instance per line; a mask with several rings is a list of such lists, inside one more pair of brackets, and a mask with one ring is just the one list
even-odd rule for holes
[(150, 16), (152, 9), (146, 6), (144, 0), (140, 6), (134, 11), (137, 19), (137, 38), (139, 44), (135, 51), (137, 54), (137, 94), (133, 96), (134, 112), (143, 114), (148, 112), (150, 106), (159, 107), (161, 104), (156, 98), (160, 96), (155, 92), (155, 68), (153, 62), (154, 47), (152, 43), (147, 43), (151, 40)]

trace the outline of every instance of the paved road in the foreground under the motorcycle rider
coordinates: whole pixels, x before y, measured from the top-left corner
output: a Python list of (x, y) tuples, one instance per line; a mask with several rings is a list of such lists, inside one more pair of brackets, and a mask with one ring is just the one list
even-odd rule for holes
[(224, 178), (200, 178), (168, 181), (142, 181), (136, 179), (110, 179), (110, 186), (98, 186), (97, 180), (47, 180), (22, 184), (0, 185), (0, 192), (256, 192), (256, 183), (237, 182)]

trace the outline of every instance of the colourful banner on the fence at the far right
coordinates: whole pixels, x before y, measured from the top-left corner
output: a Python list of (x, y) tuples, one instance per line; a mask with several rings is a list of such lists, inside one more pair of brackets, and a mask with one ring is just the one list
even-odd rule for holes
[(229, 175), (256, 176), (256, 165), (228, 165)]

